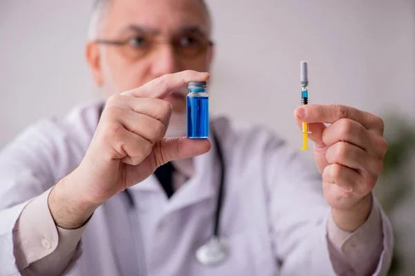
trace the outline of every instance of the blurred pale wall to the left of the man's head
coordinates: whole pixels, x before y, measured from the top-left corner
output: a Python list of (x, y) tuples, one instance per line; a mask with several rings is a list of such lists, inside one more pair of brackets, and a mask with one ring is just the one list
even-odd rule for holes
[(96, 95), (84, 61), (92, 1), (0, 1), (0, 148)]

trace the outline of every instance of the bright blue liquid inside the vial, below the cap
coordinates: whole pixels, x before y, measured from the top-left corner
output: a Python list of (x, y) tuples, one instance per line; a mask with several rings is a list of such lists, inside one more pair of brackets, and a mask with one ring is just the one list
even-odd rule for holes
[(209, 137), (209, 98), (187, 95), (187, 137)]

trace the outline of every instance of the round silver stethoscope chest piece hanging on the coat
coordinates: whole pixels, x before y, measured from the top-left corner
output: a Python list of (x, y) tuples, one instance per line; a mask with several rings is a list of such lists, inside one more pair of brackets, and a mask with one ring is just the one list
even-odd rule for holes
[(229, 246), (223, 239), (212, 237), (196, 251), (196, 258), (206, 266), (217, 266), (228, 259)]

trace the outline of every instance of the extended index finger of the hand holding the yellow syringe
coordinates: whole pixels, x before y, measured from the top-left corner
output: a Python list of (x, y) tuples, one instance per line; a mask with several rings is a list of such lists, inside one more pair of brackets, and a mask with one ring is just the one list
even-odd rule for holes
[[(304, 114), (301, 109), (304, 109)], [(295, 110), (295, 114), (306, 123), (333, 124), (340, 119), (351, 119), (362, 124), (367, 130), (378, 130), (383, 135), (383, 121), (369, 112), (339, 104), (307, 104)]]

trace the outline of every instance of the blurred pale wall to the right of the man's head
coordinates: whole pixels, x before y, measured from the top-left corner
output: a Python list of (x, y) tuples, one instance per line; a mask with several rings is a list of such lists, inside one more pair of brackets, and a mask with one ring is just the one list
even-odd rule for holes
[(298, 147), (292, 114), (300, 103), (299, 61), (306, 60), (311, 103), (415, 118), (414, 0), (209, 2), (217, 110), (267, 124)]

